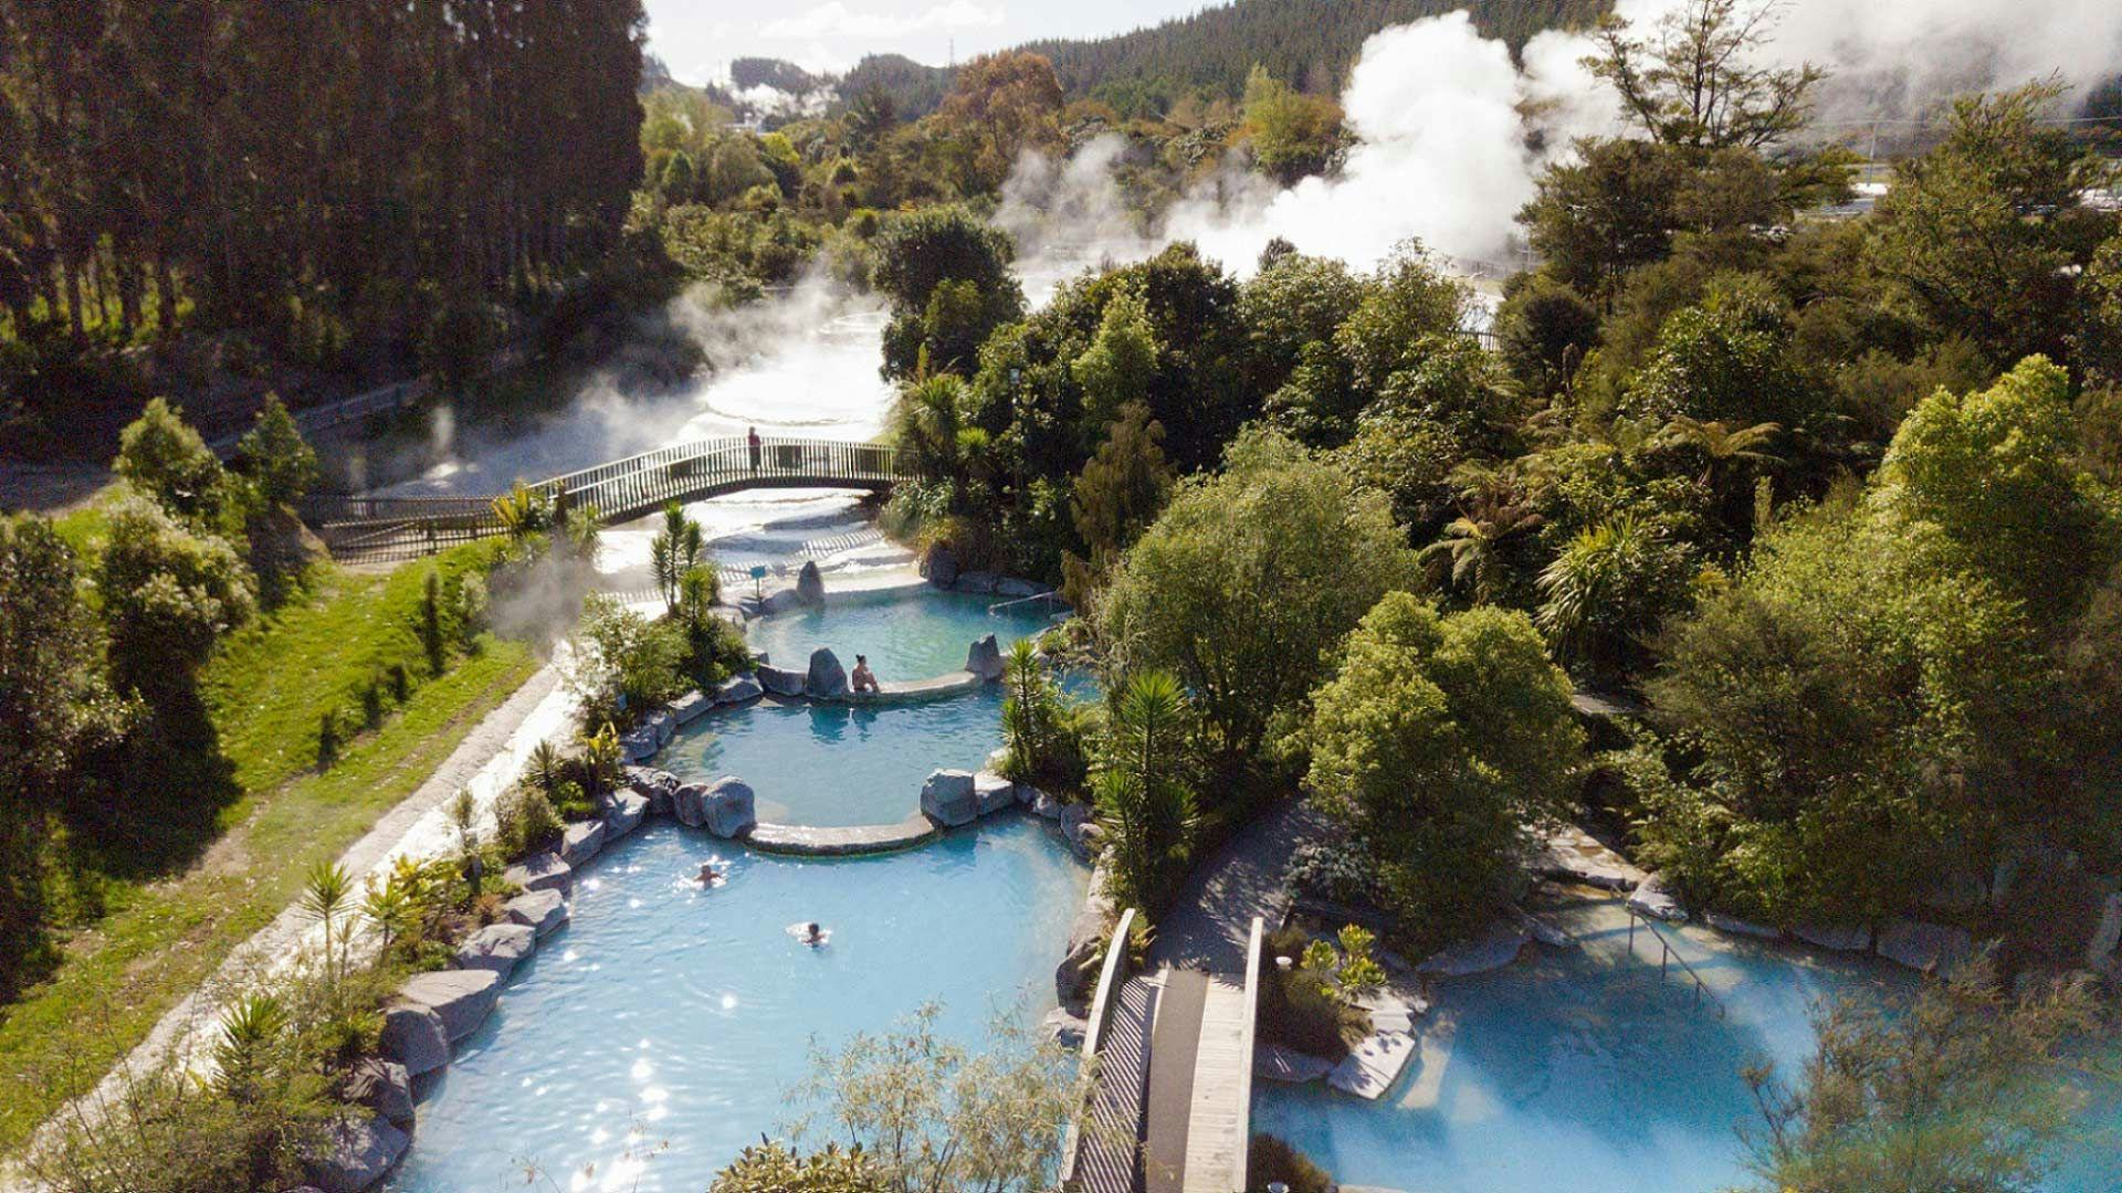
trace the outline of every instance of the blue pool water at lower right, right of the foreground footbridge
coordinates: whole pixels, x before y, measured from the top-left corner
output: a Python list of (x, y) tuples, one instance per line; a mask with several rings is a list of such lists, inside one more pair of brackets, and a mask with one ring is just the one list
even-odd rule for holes
[[(1420, 1193), (1702, 1193), (1744, 1180), (1742, 1068), (1795, 1076), (1808, 1006), (1906, 981), (1878, 964), (1668, 932), (1725, 1015), (1659, 976), (1615, 904), (1568, 917), (1583, 951), (1528, 947), (1509, 968), (1439, 983), (1422, 1049), (1377, 1102), (1324, 1085), (1254, 1087), (1254, 1129), (1288, 1138), (1337, 1180)], [(2052, 1189), (2122, 1187), (2122, 1153), (2073, 1146)]]

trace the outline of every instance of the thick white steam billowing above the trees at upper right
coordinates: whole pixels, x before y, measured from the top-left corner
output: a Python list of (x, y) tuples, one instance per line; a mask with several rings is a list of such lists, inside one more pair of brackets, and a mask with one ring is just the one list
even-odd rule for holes
[[(1681, 6), (1621, 0), (1617, 13), (1649, 36)], [(1466, 13), (1390, 28), (1364, 42), (1341, 93), (1358, 144), (1333, 178), (1271, 191), (1227, 170), (1173, 206), (1156, 236), (1137, 236), (1110, 183), (1120, 144), (1099, 140), (1067, 163), (1027, 159), (997, 219), (1033, 253), (1129, 259), (1195, 240), (1239, 272), (1275, 236), (1358, 267), (1409, 238), (1462, 263), (1507, 263), (1538, 174), (1577, 138), (1621, 132), (1608, 85), (1581, 64), (1592, 51), (1587, 36), (1547, 32), (1513, 62)], [(2122, 70), (2122, 4), (1797, 0), (1776, 13), (1768, 55), (1825, 66), (1819, 132), (1861, 136), (1874, 121), (1935, 115), (1961, 91), (2050, 74), (2077, 91), (2101, 83)]]

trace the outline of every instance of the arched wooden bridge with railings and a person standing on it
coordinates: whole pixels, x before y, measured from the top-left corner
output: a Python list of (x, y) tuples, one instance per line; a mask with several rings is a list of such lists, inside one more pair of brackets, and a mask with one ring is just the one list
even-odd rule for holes
[[(596, 507), (603, 522), (630, 522), (671, 501), (705, 501), (747, 488), (859, 488), (885, 492), (917, 476), (912, 456), (885, 444), (747, 439), (679, 444), (528, 484), (535, 495)], [(418, 558), (507, 533), (494, 497), (312, 497), (303, 520), (342, 563)]]

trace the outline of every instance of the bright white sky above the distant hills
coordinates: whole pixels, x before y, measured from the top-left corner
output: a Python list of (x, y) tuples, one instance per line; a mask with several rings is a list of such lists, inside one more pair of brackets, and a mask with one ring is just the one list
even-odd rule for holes
[(1106, 36), (1184, 17), (1214, 0), (647, 0), (649, 53), (683, 83), (734, 57), (842, 72), (868, 53), (942, 66), (1036, 38)]

